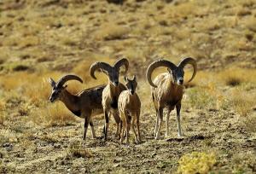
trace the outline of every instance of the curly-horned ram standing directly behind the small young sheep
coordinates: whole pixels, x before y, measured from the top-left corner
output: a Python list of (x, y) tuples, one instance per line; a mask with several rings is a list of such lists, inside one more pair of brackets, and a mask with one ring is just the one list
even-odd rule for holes
[(104, 138), (107, 140), (108, 136), (108, 122), (109, 116), (112, 114), (115, 119), (117, 129), (115, 136), (120, 136), (120, 118), (118, 111), (118, 99), (119, 95), (123, 90), (126, 90), (125, 85), (119, 83), (119, 71), (120, 67), (125, 67), (125, 74), (129, 68), (129, 61), (125, 58), (116, 61), (112, 66), (108, 63), (97, 61), (90, 66), (90, 76), (96, 79), (96, 70), (101, 70), (108, 76), (108, 84), (102, 92), (102, 107), (105, 115), (105, 126), (104, 126)]

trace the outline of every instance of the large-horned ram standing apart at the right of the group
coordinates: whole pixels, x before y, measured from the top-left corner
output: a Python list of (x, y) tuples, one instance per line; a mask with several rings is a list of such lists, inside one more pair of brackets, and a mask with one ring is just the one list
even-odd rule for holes
[[(180, 109), (181, 101), (183, 99), (183, 68), (186, 65), (192, 65), (194, 73), (189, 82), (195, 78), (197, 66), (193, 58), (185, 58), (178, 66), (174, 65), (171, 61), (159, 60), (151, 63), (147, 70), (147, 79), (151, 87), (151, 96), (154, 102), (156, 111), (156, 124), (154, 128), (154, 138), (160, 138), (160, 130), (163, 122), (163, 109), (167, 108), (166, 113), (166, 136), (169, 134), (169, 117), (171, 111), (176, 107), (177, 110), (177, 136), (183, 136), (183, 131), (180, 123)], [(167, 67), (168, 73), (160, 73), (154, 82), (151, 75), (156, 67)]]

